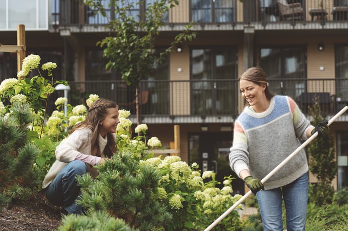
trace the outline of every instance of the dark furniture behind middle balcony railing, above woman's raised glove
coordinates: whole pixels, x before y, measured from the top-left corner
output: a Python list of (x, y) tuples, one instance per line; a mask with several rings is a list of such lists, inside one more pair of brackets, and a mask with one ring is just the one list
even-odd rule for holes
[(308, 114), (309, 107), (315, 103), (315, 98), (318, 98), (320, 109), (323, 113), (331, 112), (332, 98), (329, 92), (303, 92), (300, 95), (299, 107), (303, 113)]

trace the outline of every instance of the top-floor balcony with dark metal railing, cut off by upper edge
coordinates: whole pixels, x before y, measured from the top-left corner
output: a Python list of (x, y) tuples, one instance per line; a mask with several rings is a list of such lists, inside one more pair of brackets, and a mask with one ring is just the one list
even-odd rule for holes
[[(106, 6), (106, 14), (109, 18), (117, 15), (114, 9), (108, 7), (109, 0), (102, 1)], [(219, 1), (220, 2), (220, 1)], [(187, 21), (182, 21), (182, 14), (175, 13), (171, 9), (169, 15), (165, 15), (164, 21), (171, 25), (175, 23), (188, 23), (189, 20), (201, 24), (245, 24), (290, 22), (326, 22), (348, 21), (348, 0), (250, 0), (243, 3), (239, 0), (226, 1), (180, 0), (182, 9), (189, 12)], [(239, 8), (238, 8), (239, 7)], [(144, 18), (145, 5), (135, 4), (130, 12), (137, 20)], [(177, 10), (176, 10), (177, 11)], [(178, 16), (181, 15), (181, 16)], [(108, 19), (87, 7), (81, 0), (52, 0), (52, 24), (54, 26), (82, 26), (105, 25)], [(179, 18), (175, 18), (179, 17)]]

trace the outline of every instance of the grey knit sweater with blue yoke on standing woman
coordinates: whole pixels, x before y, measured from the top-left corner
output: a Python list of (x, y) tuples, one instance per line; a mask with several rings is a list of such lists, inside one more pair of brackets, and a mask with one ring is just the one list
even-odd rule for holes
[[(243, 169), (262, 179), (306, 140), (313, 128), (296, 103), (286, 96), (274, 96), (268, 109), (256, 113), (246, 107), (234, 125), (230, 166), (239, 176)], [(306, 153), (301, 150), (264, 183), (265, 190), (287, 185), (308, 171)]]

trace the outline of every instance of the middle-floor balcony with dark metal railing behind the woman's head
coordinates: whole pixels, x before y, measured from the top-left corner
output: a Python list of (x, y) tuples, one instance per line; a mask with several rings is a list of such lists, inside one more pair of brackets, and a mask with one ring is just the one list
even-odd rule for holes
[[(115, 101), (120, 109), (130, 110), (135, 121), (135, 90), (122, 81), (70, 82), (69, 103), (85, 104), (89, 94)], [(271, 79), (270, 91), (288, 95), (303, 113), (318, 98), (324, 115), (334, 115), (348, 102), (348, 79)], [(56, 91), (54, 102), (63, 93)], [(244, 101), (237, 80), (142, 81), (139, 109), (146, 123), (231, 123)], [(52, 112), (54, 105), (49, 110)], [(344, 121), (348, 118), (343, 117)]]

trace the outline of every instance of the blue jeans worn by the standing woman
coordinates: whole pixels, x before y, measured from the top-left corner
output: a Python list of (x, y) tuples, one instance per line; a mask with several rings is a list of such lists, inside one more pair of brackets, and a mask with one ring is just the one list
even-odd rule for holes
[(286, 210), (288, 231), (304, 231), (308, 201), (308, 173), (281, 188), (257, 192), (264, 231), (282, 231), (281, 196)]

